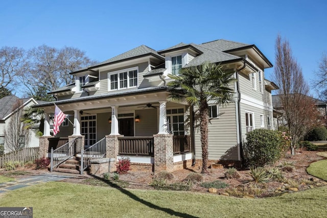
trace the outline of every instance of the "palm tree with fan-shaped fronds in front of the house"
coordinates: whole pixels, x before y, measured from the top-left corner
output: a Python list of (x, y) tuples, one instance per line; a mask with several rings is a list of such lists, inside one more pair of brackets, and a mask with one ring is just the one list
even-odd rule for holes
[(174, 101), (188, 102), (199, 113), (202, 148), (202, 170), (207, 173), (208, 163), (208, 103), (224, 105), (233, 102), (234, 90), (229, 87), (236, 80), (233, 71), (226, 71), (215, 63), (204, 62), (202, 65), (181, 68), (179, 75), (168, 75), (173, 81), (170, 98)]

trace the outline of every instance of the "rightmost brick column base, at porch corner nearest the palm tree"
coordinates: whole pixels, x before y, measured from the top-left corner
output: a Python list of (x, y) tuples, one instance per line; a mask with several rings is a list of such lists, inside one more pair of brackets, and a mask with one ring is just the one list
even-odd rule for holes
[(154, 137), (154, 172), (174, 170), (173, 135), (156, 134)]

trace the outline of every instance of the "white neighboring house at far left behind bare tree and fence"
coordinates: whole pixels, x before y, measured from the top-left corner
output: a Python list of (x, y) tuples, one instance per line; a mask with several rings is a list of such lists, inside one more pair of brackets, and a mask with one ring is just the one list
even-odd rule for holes
[(33, 98), (19, 99), (15, 95), (0, 99), (0, 147), (4, 148), (5, 153), (18, 147), (39, 146), (39, 138), (33, 129), (24, 129), (24, 124), (20, 120), (24, 109), (38, 103)]

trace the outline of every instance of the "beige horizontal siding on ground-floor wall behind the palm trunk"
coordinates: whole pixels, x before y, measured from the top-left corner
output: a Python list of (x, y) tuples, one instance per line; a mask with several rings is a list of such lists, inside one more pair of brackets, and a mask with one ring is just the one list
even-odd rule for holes
[[(230, 103), (225, 107), (220, 106), (219, 112), (223, 114), (219, 118), (212, 119), (209, 124), (209, 159), (238, 160), (235, 103)], [(200, 129), (196, 128), (195, 152), (197, 159), (202, 158), (200, 137)]]

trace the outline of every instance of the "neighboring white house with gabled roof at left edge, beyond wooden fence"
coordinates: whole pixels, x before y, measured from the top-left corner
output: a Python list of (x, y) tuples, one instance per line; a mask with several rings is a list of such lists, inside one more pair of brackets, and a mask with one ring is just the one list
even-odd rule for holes
[[(19, 99), (15, 95), (5, 96), (4, 98), (0, 99), (0, 146), (4, 146), (5, 153), (12, 151), (7, 140), (9, 140), (10, 137), (15, 137), (15, 133), (8, 131), (9, 125), (14, 125), (13, 128), (22, 126), (21, 124), (17, 123), (13, 124), (14, 120), (19, 120), (20, 122), (20, 118), (16, 117), (17, 112), (19, 111), (22, 114), (24, 113), (24, 109), (35, 104), (38, 104), (38, 102), (33, 98)], [(38, 147), (39, 138), (35, 136), (33, 129), (26, 131), (26, 134), (21, 133), (21, 135), (17, 136), (19, 137), (21, 148)]]

